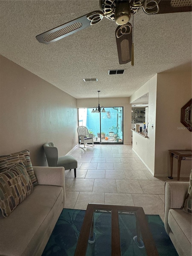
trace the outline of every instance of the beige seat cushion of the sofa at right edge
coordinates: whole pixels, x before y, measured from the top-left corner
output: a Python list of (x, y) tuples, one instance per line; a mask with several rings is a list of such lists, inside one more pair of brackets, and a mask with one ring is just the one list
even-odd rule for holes
[(180, 247), (191, 255), (191, 215), (182, 209), (170, 209), (168, 224)]

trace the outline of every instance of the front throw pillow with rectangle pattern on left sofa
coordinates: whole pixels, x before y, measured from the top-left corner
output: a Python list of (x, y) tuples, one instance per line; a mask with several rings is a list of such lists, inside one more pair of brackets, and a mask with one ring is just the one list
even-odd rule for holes
[(22, 162), (0, 173), (0, 209), (3, 217), (9, 216), (32, 191), (32, 181)]

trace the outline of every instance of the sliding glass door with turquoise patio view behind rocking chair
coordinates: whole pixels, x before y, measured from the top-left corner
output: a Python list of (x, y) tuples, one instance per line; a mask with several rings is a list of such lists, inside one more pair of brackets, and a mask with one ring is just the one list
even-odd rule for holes
[(79, 108), (79, 126), (86, 126), (94, 143), (123, 144), (123, 107), (106, 107), (106, 113)]

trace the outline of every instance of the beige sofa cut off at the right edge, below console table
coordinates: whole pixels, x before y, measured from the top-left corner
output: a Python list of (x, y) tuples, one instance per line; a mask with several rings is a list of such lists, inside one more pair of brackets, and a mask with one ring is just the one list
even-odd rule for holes
[(191, 256), (191, 214), (181, 207), (189, 188), (189, 182), (165, 182), (165, 229), (179, 256)]

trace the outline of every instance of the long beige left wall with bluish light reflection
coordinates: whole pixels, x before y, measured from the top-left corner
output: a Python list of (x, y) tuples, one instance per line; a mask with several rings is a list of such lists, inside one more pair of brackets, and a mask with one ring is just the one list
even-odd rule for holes
[(44, 143), (69, 152), (78, 142), (76, 98), (3, 56), (0, 65), (0, 154), (29, 149), (32, 164), (44, 166)]

